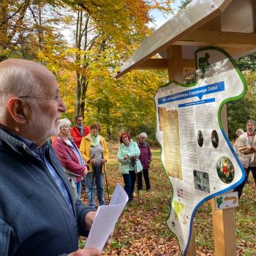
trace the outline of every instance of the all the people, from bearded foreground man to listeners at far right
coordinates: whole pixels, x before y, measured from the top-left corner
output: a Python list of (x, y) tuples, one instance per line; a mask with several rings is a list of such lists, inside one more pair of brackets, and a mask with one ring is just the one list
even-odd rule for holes
[[(104, 204), (109, 152), (100, 124), (89, 128), (76, 116), (71, 128), (69, 119), (59, 120), (66, 107), (56, 78), (34, 61), (0, 62), (0, 101), (0, 255), (102, 255), (95, 248), (78, 249), (78, 236), (88, 236), (95, 217), (94, 183)], [(256, 184), (255, 121), (248, 120), (246, 132), (237, 135), (234, 148), (246, 178), (251, 170)], [(138, 189), (143, 176), (151, 190), (146, 133), (138, 139), (121, 133), (117, 154), (129, 201), (136, 177)], [(83, 178), (89, 206), (79, 199)], [(235, 189), (239, 197), (245, 183)]]

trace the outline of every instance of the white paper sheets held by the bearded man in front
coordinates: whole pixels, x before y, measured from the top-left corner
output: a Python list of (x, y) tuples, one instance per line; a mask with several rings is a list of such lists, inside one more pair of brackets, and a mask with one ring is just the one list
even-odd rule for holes
[(116, 184), (110, 204), (99, 206), (97, 209), (85, 248), (97, 248), (102, 251), (127, 202), (127, 193), (120, 184)]

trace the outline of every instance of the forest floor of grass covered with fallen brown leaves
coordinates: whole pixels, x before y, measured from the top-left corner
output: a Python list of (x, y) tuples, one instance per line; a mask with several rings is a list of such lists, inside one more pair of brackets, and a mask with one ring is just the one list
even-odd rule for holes
[[(124, 184), (118, 173), (116, 154), (118, 144), (110, 143), (108, 161), (108, 187), (110, 197), (116, 183)], [(110, 246), (103, 255), (167, 256), (181, 255), (178, 242), (166, 224), (170, 213), (172, 188), (160, 159), (160, 148), (152, 148), (150, 168), (151, 192), (140, 192), (140, 205), (136, 192), (135, 200), (121, 214), (115, 228)], [(145, 187), (143, 188), (145, 189)], [(256, 255), (256, 189), (252, 175), (244, 187), (240, 206), (235, 208), (237, 255)], [(82, 200), (86, 203), (83, 192)], [(107, 193), (105, 189), (105, 199)], [(195, 236), (197, 255), (214, 255), (211, 204), (206, 202), (195, 214)], [(80, 246), (85, 240), (80, 238)]]

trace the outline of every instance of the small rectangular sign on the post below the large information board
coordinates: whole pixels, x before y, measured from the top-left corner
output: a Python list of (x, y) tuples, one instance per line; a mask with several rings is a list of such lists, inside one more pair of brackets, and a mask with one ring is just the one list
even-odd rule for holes
[(215, 197), (215, 209), (224, 210), (238, 206), (238, 192), (222, 194)]

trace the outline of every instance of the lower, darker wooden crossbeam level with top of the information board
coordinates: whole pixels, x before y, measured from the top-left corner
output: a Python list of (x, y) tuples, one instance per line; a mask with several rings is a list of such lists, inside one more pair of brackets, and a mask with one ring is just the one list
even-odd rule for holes
[[(183, 59), (182, 61), (183, 67), (195, 68), (195, 59)], [(143, 64), (135, 67), (135, 69), (168, 69), (168, 61), (167, 59), (147, 59)]]

